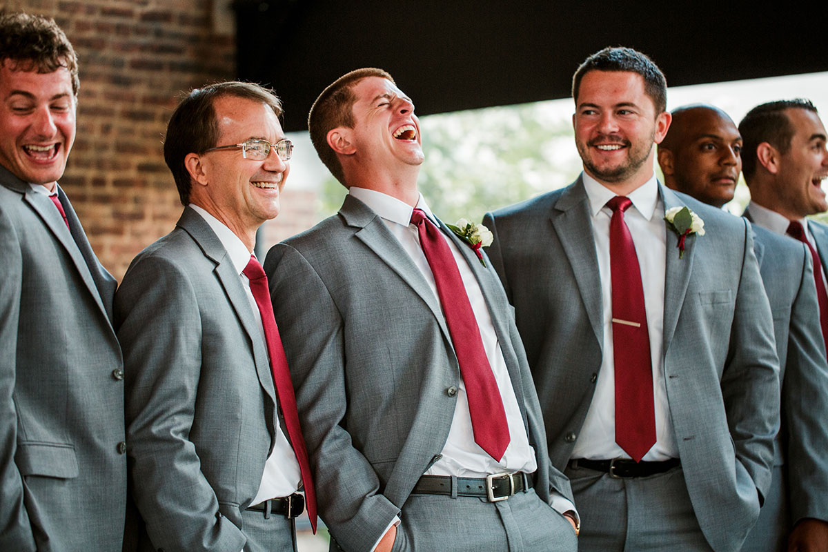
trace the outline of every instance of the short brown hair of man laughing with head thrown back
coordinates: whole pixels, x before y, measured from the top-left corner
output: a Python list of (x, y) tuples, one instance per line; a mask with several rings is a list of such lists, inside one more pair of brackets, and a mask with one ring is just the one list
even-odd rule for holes
[(322, 94), (310, 106), (310, 113), (308, 113), (310, 142), (313, 142), (317, 155), (328, 167), (330, 173), (345, 186), (347, 185), (342, 173), (342, 164), (339, 163), (336, 152), (328, 145), (328, 132), (336, 127), (354, 127), (353, 108), (356, 96), (353, 89), (365, 77), (382, 77), (394, 82), (390, 74), (376, 67), (353, 70), (322, 90)]

